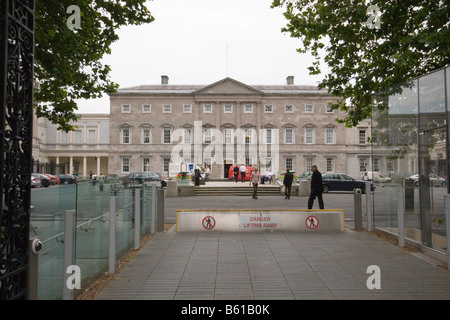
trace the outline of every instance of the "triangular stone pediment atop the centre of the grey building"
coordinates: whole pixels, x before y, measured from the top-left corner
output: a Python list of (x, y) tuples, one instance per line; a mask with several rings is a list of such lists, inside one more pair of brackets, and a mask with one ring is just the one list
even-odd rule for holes
[(261, 95), (262, 92), (232, 78), (214, 82), (193, 92), (194, 95)]

